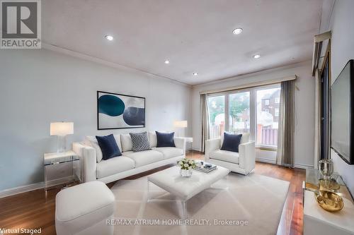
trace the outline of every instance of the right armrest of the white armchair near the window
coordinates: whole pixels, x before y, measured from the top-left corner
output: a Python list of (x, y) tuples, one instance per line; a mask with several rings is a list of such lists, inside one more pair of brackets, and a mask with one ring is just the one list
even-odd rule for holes
[(256, 165), (256, 145), (254, 141), (239, 145), (239, 166), (249, 174)]

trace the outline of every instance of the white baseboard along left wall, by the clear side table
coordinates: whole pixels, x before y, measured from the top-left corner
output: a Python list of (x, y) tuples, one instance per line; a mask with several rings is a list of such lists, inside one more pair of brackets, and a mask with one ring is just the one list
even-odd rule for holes
[[(72, 176), (67, 176), (61, 179), (55, 179), (52, 181), (48, 181), (47, 182), (47, 187), (52, 187), (52, 186), (56, 186), (59, 185), (61, 183), (67, 183), (68, 181), (72, 180)], [(5, 198), (8, 197), (10, 195), (16, 195), (18, 193), (25, 193), (28, 191), (33, 191), (33, 190), (37, 190), (40, 188), (44, 188), (45, 187), (45, 182), (38, 182), (38, 183), (31, 183), (25, 186), (18, 186), (18, 187), (14, 187), (14, 188), (7, 188), (4, 189), (2, 191), (0, 191), (0, 198)]]

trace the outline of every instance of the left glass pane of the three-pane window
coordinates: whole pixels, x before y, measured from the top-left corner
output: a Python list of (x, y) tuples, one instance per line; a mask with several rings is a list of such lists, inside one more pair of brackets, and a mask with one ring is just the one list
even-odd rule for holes
[(209, 109), (210, 138), (219, 138), (220, 134), (224, 132), (225, 96), (208, 97), (207, 108)]

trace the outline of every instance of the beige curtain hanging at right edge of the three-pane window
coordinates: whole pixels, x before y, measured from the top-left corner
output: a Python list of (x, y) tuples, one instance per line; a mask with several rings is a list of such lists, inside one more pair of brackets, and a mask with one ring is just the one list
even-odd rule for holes
[(281, 83), (277, 164), (294, 167), (295, 80)]

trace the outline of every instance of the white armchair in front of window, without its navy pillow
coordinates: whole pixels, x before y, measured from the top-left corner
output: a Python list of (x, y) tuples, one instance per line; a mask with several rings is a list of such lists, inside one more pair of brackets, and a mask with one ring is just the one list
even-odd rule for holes
[(217, 164), (244, 175), (253, 171), (256, 164), (256, 150), (254, 141), (249, 141), (249, 133), (242, 134), (239, 152), (220, 150), (223, 141), (224, 133), (221, 138), (207, 140), (205, 162)]

